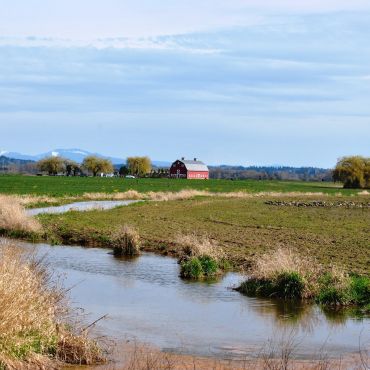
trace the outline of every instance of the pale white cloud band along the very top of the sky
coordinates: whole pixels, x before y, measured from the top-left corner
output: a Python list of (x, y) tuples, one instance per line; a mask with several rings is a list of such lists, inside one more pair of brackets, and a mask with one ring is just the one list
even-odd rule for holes
[(368, 0), (0, 0), (0, 34), (152, 37), (266, 24), (270, 16), (369, 11)]

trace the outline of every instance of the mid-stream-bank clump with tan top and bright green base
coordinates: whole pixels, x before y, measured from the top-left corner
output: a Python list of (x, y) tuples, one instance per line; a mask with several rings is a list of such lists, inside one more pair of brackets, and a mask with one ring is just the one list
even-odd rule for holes
[(214, 277), (228, 267), (222, 248), (208, 237), (181, 235), (180, 276), (187, 279)]

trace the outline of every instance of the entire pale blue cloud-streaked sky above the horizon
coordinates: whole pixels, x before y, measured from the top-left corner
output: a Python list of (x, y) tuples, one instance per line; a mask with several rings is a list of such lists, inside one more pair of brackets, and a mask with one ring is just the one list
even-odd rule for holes
[(369, 0), (0, 0), (0, 152), (370, 155)]

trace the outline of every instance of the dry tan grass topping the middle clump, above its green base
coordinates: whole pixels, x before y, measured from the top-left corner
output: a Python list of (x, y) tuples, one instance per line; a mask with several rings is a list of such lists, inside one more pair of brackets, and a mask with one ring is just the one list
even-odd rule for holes
[(180, 234), (177, 235), (175, 243), (181, 246), (182, 255), (186, 257), (208, 256), (216, 261), (221, 261), (225, 258), (225, 253), (220, 245), (206, 235)]

